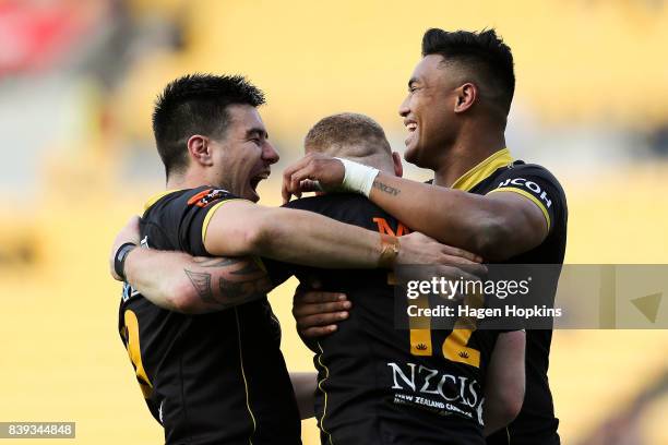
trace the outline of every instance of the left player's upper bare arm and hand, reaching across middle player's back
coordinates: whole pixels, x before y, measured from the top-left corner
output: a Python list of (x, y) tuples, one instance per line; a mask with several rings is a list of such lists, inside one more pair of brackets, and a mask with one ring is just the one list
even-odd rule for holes
[[(258, 255), (326, 268), (392, 268), (395, 264), (451, 264), (453, 249), (421, 233), (379, 234), (312, 212), (246, 201), (224, 203), (203, 229), (214, 256)], [(480, 258), (456, 250), (455, 262)]]

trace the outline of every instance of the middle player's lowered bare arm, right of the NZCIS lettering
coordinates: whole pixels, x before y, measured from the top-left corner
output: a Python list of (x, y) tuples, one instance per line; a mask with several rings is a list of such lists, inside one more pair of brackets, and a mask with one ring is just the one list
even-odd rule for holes
[(499, 334), (485, 385), (485, 435), (508, 425), (522, 409), (525, 390), (526, 333)]

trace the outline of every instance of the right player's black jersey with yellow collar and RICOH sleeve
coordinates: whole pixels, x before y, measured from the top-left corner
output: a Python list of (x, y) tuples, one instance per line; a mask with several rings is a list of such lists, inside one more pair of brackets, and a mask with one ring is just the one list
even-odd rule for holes
[[(460, 178), (454, 189), (476, 194), (517, 193), (538, 206), (547, 225), (545, 241), (528, 252), (501, 264), (563, 264), (566, 244), (568, 207), (559, 181), (544, 167), (513, 160), (502, 149), (474, 167)], [(557, 292), (557, 280), (548, 288)], [(488, 437), (488, 444), (553, 445), (559, 444), (552, 395), (548, 383), (548, 368), (552, 332), (534, 329), (526, 333), (526, 393), (517, 418), (508, 426)]]

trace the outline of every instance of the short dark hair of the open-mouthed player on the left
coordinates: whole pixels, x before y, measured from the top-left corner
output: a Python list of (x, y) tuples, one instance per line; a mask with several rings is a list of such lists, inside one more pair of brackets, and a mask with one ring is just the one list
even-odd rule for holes
[(170, 82), (157, 97), (153, 134), (167, 177), (188, 166), (193, 134), (222, 137), (232, 104), (258, 107), (264, 94), (240, 75), (189, 74)]

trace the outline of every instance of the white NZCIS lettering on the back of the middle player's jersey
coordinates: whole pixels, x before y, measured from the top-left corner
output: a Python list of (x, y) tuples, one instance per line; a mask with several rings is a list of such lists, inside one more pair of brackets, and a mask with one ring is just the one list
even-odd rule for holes
[(389, 362), (387, 366), (392, 370), (392, 389), (413, 393), (397, 395), (402, 404), (440, 408), (468, 419), (475, 416), (482, 424), (485, 399), (476, 380), (446, 374), (417, 363)]

